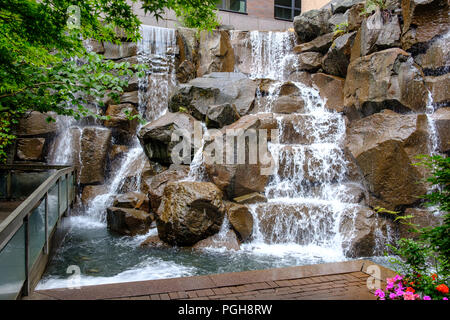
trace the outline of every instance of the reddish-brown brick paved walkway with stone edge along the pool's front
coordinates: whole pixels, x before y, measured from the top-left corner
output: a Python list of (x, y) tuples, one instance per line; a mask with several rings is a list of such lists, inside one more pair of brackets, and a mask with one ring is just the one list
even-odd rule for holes
[[(36, 291), (26, 299), (372, 300), (367, 268), (356, 260), (258, 271)], [(377, 265), (378, 266), (378, 265)], [(381, 280), (393, 271), (378, 266)]]

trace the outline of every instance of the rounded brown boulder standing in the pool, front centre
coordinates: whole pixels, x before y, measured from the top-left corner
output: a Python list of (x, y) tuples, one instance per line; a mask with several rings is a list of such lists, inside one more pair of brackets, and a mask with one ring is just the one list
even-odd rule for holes
[(170, 182), (157, 212), (158, 235), (171, 245), (191, 246), (217, 233), (223, 222), (222, 192), (210, 182)]

